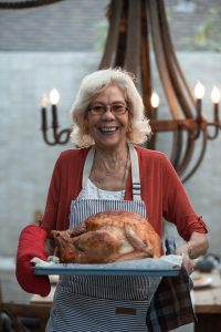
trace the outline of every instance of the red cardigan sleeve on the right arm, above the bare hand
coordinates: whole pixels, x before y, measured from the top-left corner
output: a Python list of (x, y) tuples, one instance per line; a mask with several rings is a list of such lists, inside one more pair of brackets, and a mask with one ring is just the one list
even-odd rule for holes
[(166, 156), (162, 156), (162, 208), (167, 221), (173, 222), (179, 235), (189, 240), (193, 231), (206, 234), (207, 226), (197, 215), (186, 189), (175, 168)]

